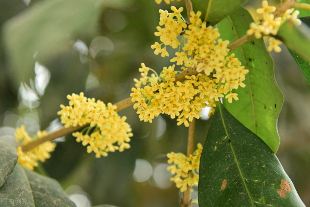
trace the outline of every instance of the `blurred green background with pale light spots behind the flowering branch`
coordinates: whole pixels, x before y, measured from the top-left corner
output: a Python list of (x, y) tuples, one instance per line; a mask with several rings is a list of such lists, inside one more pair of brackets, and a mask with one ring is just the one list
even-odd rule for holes
[[(255, 11), (260, 5), (253, 0), (244, 6)], [(0, 0), (0, 137), (17, 144), (13, 134), (21, 124), (30, 135), (56, 130), (67, 94), (84, 92), (105, 103), (129, 97), (142, 62), (156, 71), (171, 64), (150, 48), (158, 41), (158, 9), (170, 6), (153, 0)], [(272, 56), (285, 97), (277, 156), (310, 206), (310, 86), (285, 47)], [(132, 107), (119, 114), (133, 129), (130, 149), (97, 159), (67, 135), (55, 140), (51, 159), (37, 171), (58, 180), (78, 207), (179, 206), (166, 153), (186, 153), (187, 128), (166, 115), (140, 122)], [(202, 114), (196, 143), (203, 144), (210, 119), (208, 109)]]

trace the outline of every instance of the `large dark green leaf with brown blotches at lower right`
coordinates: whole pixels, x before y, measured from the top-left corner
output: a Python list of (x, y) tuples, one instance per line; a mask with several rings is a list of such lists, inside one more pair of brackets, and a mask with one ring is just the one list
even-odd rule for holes
[(201, 153), (198, 202), (201, 207), (305, 206), (276, 155), (220, 102)]

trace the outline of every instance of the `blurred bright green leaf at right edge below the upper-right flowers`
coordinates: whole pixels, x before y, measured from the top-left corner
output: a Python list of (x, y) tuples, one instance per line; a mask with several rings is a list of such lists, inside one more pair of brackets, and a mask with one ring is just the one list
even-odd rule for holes
[(302, 23), (296, 26), (290, 20), (287, 20), (279, 29), (277, 36), (285, 43), (288, 49), (310, 60), (310, 28)]

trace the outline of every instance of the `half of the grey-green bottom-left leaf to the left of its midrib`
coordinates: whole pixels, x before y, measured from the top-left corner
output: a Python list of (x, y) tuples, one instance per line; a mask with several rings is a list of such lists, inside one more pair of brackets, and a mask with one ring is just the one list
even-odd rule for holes
[[(5, 206), (34, 206), (33, 195), (23, 168), (16, 164), (14, 171), (0, 187), (0, 198)], [(2, 200), (3, 201), (3, 200)], [(2, 204), (4, 204), (2, 202)]]

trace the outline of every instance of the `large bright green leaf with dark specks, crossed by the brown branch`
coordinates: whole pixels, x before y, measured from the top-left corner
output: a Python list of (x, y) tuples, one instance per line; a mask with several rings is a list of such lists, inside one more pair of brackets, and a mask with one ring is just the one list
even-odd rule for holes
[[(220, 38), (231, 43), (236, 41), (246, 34), (251, 22), (254, 20), (250, 13), (240, 7), (218, 24)], [(274, 62), (263, 39), (248, 41), (232, 52), (250, 72), (243, 81), (246, 87), (233, 91), (238, 94), (239, 100), (228, 103), (224, 99), (224, 106), (273, 152), (277, 152), (280, 144), (277, 117), (284, 97), (274, 79)]]

